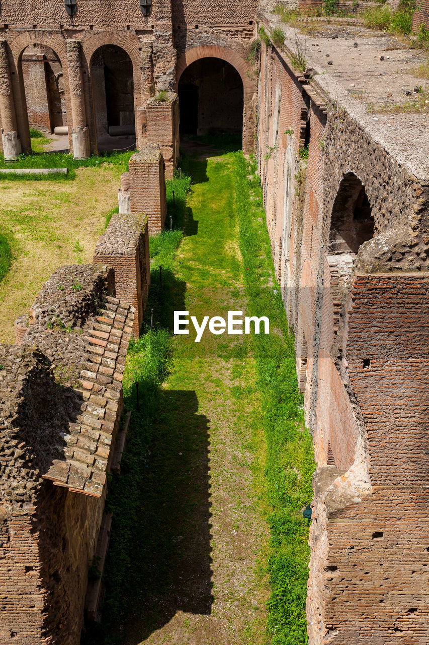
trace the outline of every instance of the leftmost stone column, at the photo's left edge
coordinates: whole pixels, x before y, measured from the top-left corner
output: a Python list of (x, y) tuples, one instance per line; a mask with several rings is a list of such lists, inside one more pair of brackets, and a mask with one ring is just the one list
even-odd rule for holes
[(13, 161), (21, 154), (21, 141), (19, 141), (14, 95), (10, 81), (10, 70), (6, 41), (0, 41), (0, 112), (1, 112), (1, 139), (5, 159)]

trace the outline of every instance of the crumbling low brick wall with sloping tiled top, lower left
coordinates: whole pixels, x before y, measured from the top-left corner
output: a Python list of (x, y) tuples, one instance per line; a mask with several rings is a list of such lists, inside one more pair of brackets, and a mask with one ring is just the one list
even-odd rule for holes
[(79, 642), (134, 309), (105, 265), (62, 267), (0, 348), (0, 642)]

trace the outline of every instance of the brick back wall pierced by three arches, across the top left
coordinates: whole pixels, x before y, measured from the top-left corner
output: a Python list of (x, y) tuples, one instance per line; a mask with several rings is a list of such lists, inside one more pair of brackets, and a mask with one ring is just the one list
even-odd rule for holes
[[(23, 151), (30, 150), (29, 119), (32, 126), (38, 124), (44, 129), (52, 129), (53, 125), (59, 124), (52, 123), (53, 113), (57, 114), (57, 109), (46, 109), (48, 97), (46, 101), (44, 97), (49, 83), (41, 66), (36, 70), (34, 63), (30, 65), (25, 56), (23, 59), (28, 46), (32, 48), (35, 45), (41, 51), (49, 48), (55, 59), (55, 74), (62, 70), (64, 92), (61, 99), (55, 95), (55, 101), (61, 100), (62, 121), (69, 126), (71, 149), (72, 128), (88, 127), (90, 150), (96, 152), (98, 134), (104, 126), (100, 122), (97, 128), (97, 118), (102, 119), (96, 109), (99, 105), (100, 82), (97, 52), (102, 46), (113, 45), (124, 50), (131, 59), (137, 148), (141, 148), (146, 137), (151, 136), (150, 123), (146, 122), (145, 115), (148, 101), (160, 90), (176, 90), (180, 75), (178, 60), (183, 59), (187, 52), (200, 48), (201, 57), (210, 56), (213, 55), (211, 48), (220, 46), (228, 57), (234, 58), (231, 64), (237, 69), (241, 68), (238, 71), (245, 90), (244, 145), (245, 151), (250, 152), (254, 148), (251, 135), (254, 132), (256, 88), (246, 58), (255, 36), (256, 8), (255, 0), (245, 3), (235, 1), (227, 5), (220, 2), (172, 3), (158, 0), (153, 3), (149, 16), (144, 16), (134, 1), (109, 3), (107, 8), (90, 1), (84, 5), (79, 3), (76, 15), (70, 17), (64, 3), (58, 0), (36, 9), (27, 9), (18, 0), (6, 0), (1, 6), (4, 26), (0, 26), (0, 30), (6, 44), (3, 84), (7, 86), (6, 93), (10, 100), (1, 110), (1, 123), (7, 132), (17, 131)], [(79, 51), (71, 55), (70, 46)], [(30, 76), (34, 81), (31, 91), (28, 83)], [(177, 106), (173, 104), (173, 112), (176, 110)], [(158, 114), (162, 117), (162, 110)], [(176, 132), (174, 130), (178, 119), (174, 114), (171, 119), (171, 112), (165, 117), (169, 123), (166, 121), (166, 129), (158, 137), (157, 143), (164, 152), (167, 177), (171, 177), (178, 150), (178, 128)], [(146, 132), (147, 123), (149, 127)]]

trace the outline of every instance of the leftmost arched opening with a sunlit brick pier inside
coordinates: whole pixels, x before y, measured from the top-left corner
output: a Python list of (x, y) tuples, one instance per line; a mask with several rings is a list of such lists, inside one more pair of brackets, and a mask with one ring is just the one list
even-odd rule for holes
[(24, 50), (21, 66), (30, 128), (66, 136), (68, 123), (59, 57), (50, 47), (34, 44)]

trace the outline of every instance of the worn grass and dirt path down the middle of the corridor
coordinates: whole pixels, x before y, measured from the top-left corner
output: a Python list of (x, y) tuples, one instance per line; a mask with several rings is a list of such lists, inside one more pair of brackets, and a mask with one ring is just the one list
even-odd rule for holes
[[(242, 310), (234, 184), (227, 157), (191, 163), (179, 306), (202, 321)], [(260, 401), (247, 337), (175, 337), (174, 366), (148, 463), (142, 522), (150, 579), (124, 626), (127, 645), (262, 644), (267, 590), (258, 562), (266, 522), (254, 486), (263, 462)], [(252, 392), (252, 395), (249, 393)]]

